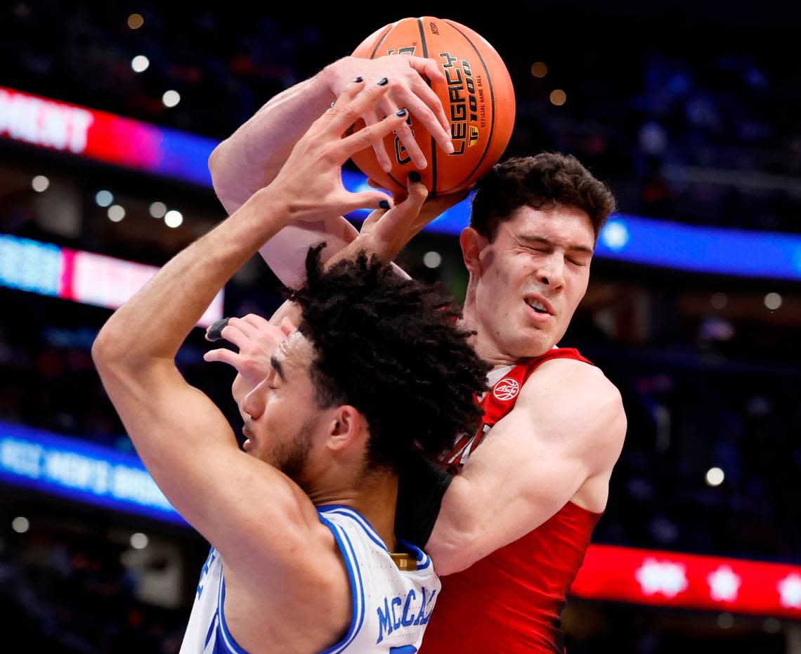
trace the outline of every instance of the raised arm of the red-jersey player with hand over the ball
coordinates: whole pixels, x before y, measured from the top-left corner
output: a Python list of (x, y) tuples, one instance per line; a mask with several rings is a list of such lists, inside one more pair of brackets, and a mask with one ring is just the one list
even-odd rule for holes
[[(235, 211), (256, 190), (272, 182), (296, 141), (334, 98), (354, 78), (367, 86), (387, 78), (387, 93), (375, 107), (360, 116), (374, 124), (381, 115), (400, 108), (409, 111), (433, 134), (445, 152), (453, 151), (445, 111), (427, 79), (444, 81), (432, 59), (394, 55), (377, 59), (345, 57), (326, 66), (314, 77), (272, 98), (248, 122), (219, 144), (209, 158), (215, 192), (226, 211)], [(417, 167), (427, 164), (408, 127), (398, 130), (401, 141)], [(370, 144), (385, 169), (388, 153), (380, 139)], [(264, 243), (260, 254), (282, 283), (297, 287), (303, 280), (303, 262), (309, 247), (326, 242), (328, 259), (356, 238), (356, 230), (341, 216), (327, 216), (312, 223), (296, 223)]]

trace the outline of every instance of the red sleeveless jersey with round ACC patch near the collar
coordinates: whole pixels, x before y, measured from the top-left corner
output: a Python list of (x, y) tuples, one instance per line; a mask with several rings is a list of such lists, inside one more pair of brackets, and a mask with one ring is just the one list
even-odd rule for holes
[[(550, 359), (592, 365), (578, 350), (562, 347), (512, 367), (481, 399), (485, 415), (476, 435), (459, 439), (442, 464), (456, 474), (489, 429), (513, 409), (526, 379)], [(562, 608), (599, 517), (568, 502), (522, 538), (442, 577), (421, 654), (564, 652)]]

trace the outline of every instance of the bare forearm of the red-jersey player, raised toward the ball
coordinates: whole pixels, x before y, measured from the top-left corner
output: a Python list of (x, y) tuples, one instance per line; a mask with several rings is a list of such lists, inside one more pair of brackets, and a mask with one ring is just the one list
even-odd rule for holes
[(211, 181), (226, 211), (275, 179), (292, 147), (335, 99), (326, 75), (322, 70), (276, 95), (211, 153)]

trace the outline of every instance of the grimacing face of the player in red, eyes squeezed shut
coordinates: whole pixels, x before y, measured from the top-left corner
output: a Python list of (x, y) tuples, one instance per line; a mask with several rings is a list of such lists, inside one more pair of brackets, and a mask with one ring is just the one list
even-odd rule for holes
[(521, 207), (481, 250), (476, 305), (483, 331), (510, 358), (544, 354), (567, 330), (587, 290), (594, 249), (577, 207)]

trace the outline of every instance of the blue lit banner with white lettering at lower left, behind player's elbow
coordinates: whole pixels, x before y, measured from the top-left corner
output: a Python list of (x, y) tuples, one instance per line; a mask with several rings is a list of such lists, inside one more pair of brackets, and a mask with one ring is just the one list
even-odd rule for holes
[(0, 482), (187, 524), (139, 457), (49, 431), (0, 422)]

